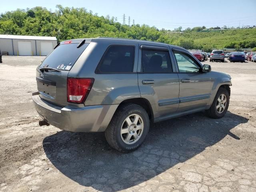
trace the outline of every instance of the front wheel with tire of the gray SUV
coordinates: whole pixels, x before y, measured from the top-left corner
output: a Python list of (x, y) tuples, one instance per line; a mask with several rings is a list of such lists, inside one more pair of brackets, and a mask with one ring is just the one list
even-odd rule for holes
[(229, 98), (228, 90), (219, 88), (214, 101), (212, 102), (212, 106), (206, 110), (208, 116), (214, 119), (222, 118), (228, 110)]

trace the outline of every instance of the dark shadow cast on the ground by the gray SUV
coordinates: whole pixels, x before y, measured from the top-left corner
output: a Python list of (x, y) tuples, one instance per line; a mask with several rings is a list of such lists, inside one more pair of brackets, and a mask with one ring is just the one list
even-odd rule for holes
[(60, 131), (44, 138), (43, 147), (68, 178), (96, 190), (117, 191), (158, 176), (227, 135), (240, 139), (230, 130), (247, 121), (231, 112), (219, 120), (198, 112), (152, 124), (144, 144), (128, 154), (110, 148), (104, 133)]

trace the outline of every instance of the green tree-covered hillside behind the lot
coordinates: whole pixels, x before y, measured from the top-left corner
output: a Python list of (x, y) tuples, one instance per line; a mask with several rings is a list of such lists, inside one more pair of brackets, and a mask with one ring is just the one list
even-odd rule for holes
[[(35, 7), (0, 15), (0, 34), (56, 36), (58, 41), (72, 38), (120, 37), (151, 40), (210, 51), (212, 48), (256, 47), (256, 28), (196, 32), (202, 27), (183, 32), (159, 30), (148, 25), (122, 25), (114, 17), (99, 17), (85, 8), (56, 6), (55, 12)], [(203, 28), (205, 30), (205, 27)]]

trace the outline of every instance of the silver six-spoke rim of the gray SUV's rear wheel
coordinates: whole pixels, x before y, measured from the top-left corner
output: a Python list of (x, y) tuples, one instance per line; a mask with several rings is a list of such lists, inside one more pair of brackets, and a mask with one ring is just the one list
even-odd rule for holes
[(143, 130), (144, 122), (142, 117), (138, 114), (132, 114), (122, 123), (121, 138), (126, 144), (134, 144), (141, 138)]

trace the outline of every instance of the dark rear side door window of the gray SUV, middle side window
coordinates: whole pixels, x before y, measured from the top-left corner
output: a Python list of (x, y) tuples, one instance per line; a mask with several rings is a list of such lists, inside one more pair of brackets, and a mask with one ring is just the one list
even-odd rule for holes
[(145, 73), (172, 72), (172, 64), (167, 51), (142, 50), (141, 63)]

